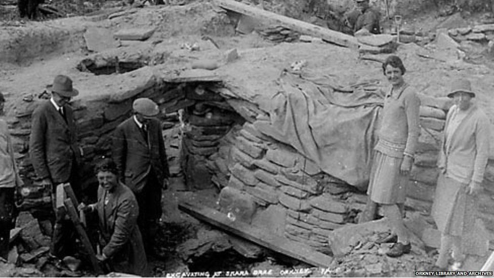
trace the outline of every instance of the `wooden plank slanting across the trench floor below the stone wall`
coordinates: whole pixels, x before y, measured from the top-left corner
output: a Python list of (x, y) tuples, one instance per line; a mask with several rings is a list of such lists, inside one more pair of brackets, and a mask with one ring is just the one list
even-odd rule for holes
[(328, 267), (333, 260), (333, 257), (317, 252), (305, 244), (293, 242), (285, 237), (266, 232), (264, 229), (257, 228), (238, 220), (231, 221), (226, 214), (208, 207), (199, 207), (197, 204), (181, 202), (179, 204), (179, 209), (200, 220), (239, 235), (253, 243), (313, 266)]

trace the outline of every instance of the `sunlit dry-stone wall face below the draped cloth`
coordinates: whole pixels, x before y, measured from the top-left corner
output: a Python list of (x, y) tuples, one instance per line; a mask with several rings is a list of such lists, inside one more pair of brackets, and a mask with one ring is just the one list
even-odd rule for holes
[(283, 236), (327, 251), (327, 233), (350, 221), (353, 203), (340, 198), (352, 190), (350, 186), (321, 173), (315, 163), (261, 134), (251, 123), (228, 137), (215, 156), (215, 170), (229, 176), (220, 200), (236, 192), (241, 202), (249, 195), (258, 214), (274, 206), (284, 211)]

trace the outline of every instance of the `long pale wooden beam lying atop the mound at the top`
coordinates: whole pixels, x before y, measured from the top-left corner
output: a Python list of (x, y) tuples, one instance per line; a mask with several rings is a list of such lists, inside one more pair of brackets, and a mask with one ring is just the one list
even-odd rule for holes
[(257, 18), (268, 23), (281, 25), (303, 34), (320, 37), (327, 42), (354, 49), (358, 47), (357, 39), (344, 33), (310, 24), (305, 21), (261, 10), (259, 8), (255, 8), (232, 0), (215, 0), (215, 2), (223, 9), (237, 12), (242, 15), (251, 16), (253, 18)]

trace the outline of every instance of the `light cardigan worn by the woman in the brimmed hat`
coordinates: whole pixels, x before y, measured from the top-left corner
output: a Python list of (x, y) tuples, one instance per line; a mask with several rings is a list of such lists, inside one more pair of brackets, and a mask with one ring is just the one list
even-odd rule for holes
[(476, 105), (469, 108), (446, 146), (446, 131), (451, 115), (459, 108), (453, 105), (446, 116), (437, 166), (445, 170), (446, 177), (461, 183), (482, 182), (489, 156), (489, 119)]

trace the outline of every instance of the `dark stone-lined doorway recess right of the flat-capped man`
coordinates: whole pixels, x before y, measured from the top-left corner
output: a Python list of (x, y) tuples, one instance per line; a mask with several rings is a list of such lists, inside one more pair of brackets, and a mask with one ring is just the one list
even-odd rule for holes
[(229, 136), (225, 135), (232, 124), (245, 120), (208, 86), (191, 85), (185, 91), (187, 99), (195, 101), (195, 105), (187, 109), (184, 131), (182, 162), (186, 182), (196, 189), (210, 188), (213, 184), (218, 188), (225, 187), (228, 171), (224, 158), (218, 155), (220, 142), (228, 145)]

